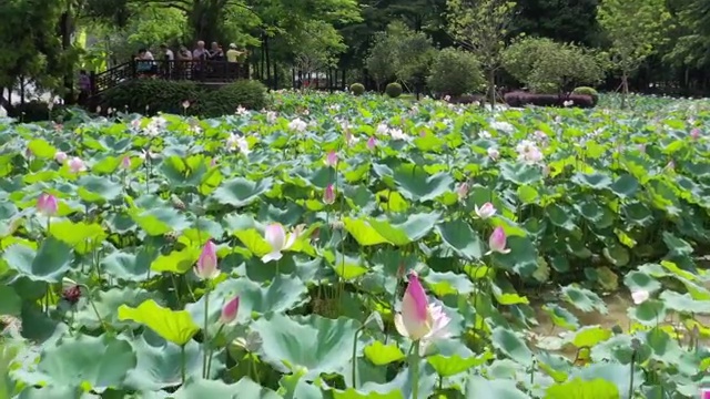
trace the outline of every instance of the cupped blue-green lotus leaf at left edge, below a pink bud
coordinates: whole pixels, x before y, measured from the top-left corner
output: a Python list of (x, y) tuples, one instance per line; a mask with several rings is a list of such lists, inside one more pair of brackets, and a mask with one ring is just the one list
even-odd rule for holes
[(8, 267), (36, 282), (59, 283), (69, 270), (71, 247), (54, 237), (42, 241), (39, 250), (14, 244), (2, 255)]

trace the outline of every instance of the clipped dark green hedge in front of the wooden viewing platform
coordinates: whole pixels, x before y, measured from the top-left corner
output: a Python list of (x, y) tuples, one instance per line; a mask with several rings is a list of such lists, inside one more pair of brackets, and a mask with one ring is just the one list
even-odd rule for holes
[(216, 117), (233, 114), (237, 106), (260, 110), (266, 105), (266, 88), (257, 81), (236, 81), (211, 89), (190, 81), (139, 79), (101, 94), (101, 109), (153, 114), (182, 114), (189, 101), (190, 115)]

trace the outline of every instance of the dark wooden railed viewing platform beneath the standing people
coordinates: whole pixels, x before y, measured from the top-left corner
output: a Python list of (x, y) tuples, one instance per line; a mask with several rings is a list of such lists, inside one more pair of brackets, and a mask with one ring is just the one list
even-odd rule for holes
[(227, 61), (133, 60), (91, 73), (91, 95), (135, 79), (189, 80), (205, 84), (221, 84), (250, 79), (248, 64)]

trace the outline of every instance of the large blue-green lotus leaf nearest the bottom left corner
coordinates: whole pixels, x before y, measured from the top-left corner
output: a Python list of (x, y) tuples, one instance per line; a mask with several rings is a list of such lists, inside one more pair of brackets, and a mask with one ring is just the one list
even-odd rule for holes
[(52, 387), (88, 385), (103, 390), (121, 386), (135, 365), (135, 352), (128, 341), (108, 335), (78, 335), (44, 347), (37, 369)]

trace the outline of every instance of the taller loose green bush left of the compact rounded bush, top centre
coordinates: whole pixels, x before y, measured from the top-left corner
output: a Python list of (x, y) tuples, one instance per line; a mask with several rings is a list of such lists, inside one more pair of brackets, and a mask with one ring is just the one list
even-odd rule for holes
[(377, 84), (392, 79), (415, 85), (424, 83), (436, 51), (432, 40), (400, 22), (393, 22), (373, 42), (365, 64)]

